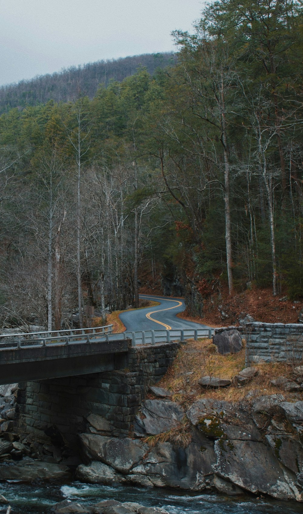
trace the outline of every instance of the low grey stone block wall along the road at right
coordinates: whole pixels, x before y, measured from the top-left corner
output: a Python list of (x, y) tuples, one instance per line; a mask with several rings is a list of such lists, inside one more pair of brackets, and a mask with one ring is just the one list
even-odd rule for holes
[(253, 362), (297, 362), (303, 358), (303, 324), (247, 323), (216, 328), (215, 334), (235, 328), (246, 339), (246, 364)]

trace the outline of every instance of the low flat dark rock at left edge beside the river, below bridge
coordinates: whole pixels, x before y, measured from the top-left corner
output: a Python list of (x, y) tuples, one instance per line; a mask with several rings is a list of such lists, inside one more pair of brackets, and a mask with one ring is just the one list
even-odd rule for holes
[(0, 466), (0, 479), (21, 480), (32, 482), (33, 480), (70, 480), (69, 468), (60, 464), (37, 461), (9, 462)]

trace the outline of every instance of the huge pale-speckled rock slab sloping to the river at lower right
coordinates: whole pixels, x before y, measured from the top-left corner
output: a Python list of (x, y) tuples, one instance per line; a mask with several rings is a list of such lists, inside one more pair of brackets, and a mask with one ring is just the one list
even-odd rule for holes
[(215, 442), (215, 452), (214, 472), (238, 487), (281, 500), (303, 500), (296, 476), (281, 466), (264, 444), (220, 439)]

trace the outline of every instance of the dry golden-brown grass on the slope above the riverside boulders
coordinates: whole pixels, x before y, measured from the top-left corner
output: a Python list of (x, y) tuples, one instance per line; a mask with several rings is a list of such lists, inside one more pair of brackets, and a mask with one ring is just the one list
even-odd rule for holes
[(240, 401), (251, 391), (254, 397), (265, 394), (284, 394), (288, 400), (301, 399), (302, 394), (288, 393), (283, 387), (274, 387), (270, 381), (280, 375), (293, 380), (291, 365), (286, 363), (255, 364), (258, 375), (245, 386), (238, 386), (236, 380), (228, 388), (203, 388), (198, 384), (204, 375), (233, 379), (245, 368), (245, 347), (236, 354), (219, 355), (213, 353), (213, 344), (209, 339), (189, 340), (181, 345), (178, 355), (168, 373), (157, 384), (171, 390), (173, 400), (188, 407), (198, 398), (215, 398), (227, 401)]

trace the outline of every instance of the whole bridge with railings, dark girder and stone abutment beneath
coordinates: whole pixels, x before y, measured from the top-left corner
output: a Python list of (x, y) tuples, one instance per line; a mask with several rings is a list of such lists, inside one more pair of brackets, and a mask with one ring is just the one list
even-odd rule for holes
[(50, 434), (61, 434), (74, 452), (77, 434), (87, 430), (128, 436), (178, 341), (209, 336), (208, 329), (112, 334), (103, 328), (0, 337), (0, 384), (18, 382), (15, 417), (1, 430), (33, 444), (54, 444)]

